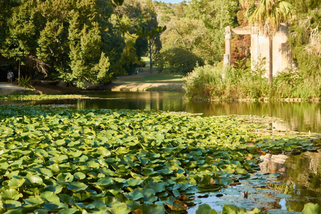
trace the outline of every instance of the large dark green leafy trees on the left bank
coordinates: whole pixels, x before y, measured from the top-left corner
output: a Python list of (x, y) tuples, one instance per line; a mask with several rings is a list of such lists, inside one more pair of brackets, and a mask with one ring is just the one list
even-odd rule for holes
[(1, 55), (21, 60), (24, 73), (98, 83), (111, 81), (124, 46), (110, 1), (1, 1)]

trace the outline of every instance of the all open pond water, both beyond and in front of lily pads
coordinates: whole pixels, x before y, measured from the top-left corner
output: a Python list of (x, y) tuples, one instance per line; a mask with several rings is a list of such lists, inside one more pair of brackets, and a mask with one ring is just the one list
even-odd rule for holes
[[(211, 115), (256, 115), (281, 118), (271, 124), (276, 129), (321, 133), (320, 102), (208, 102), (189, 101), (181, 92), (84, 92), (89, 97), (117, 99), (62, 99), (39, 101), (0, 101), (0, 105), (72, 104), (78, 109), (155, 109), (185, 111)], [(321, 153), (304, 152), (299, 155), (267, 154), (261, 156), (261, 171), (240, 184), (216, 193), (197, 196), (220, 211), (221, 205), (234, 203), (239, 207), (254, 207), (271, 213), (296, 213), (307, 202), (321, 203)], [(244, 191), (249, 193), (244, 198)], [(197, 206), (188, 213), (195, 213)], [(281, 211), (282, 209), (283, 211)]]

